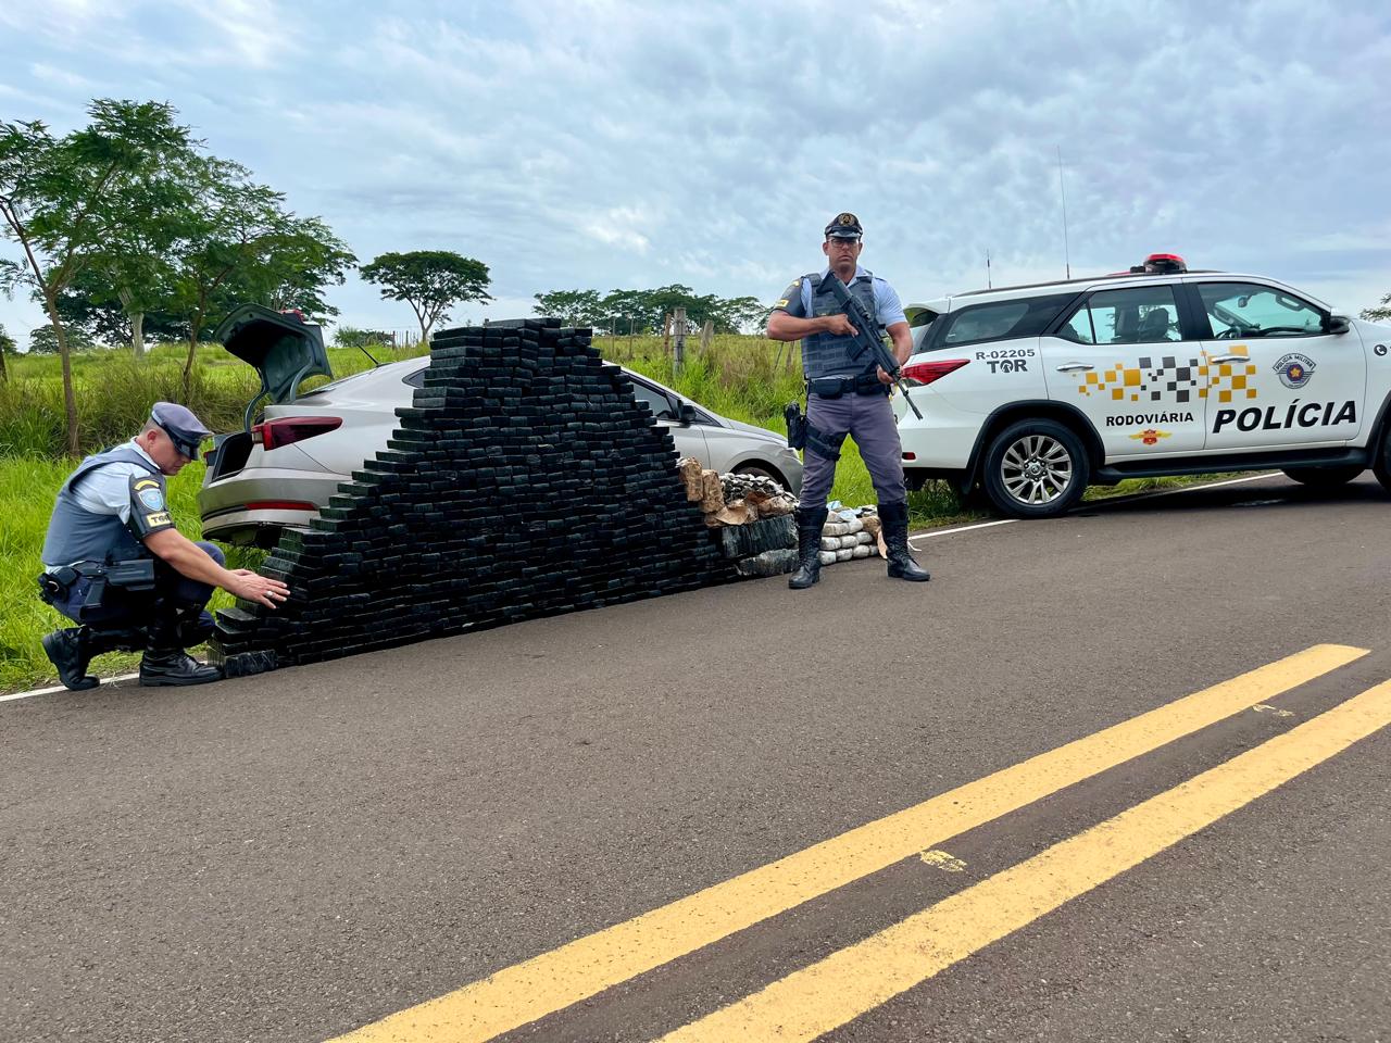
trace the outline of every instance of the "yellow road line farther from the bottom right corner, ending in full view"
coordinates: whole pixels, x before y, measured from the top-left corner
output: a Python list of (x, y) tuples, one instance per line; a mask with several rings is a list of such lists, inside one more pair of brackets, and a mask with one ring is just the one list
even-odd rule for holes
[(331, 1043), (481, 1043), (1362, 658), (1314, 645), (707, 887)]

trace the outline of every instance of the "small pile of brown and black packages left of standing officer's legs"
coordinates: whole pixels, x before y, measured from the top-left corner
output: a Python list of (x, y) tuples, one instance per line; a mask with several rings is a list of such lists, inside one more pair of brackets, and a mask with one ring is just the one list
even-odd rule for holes
[(677, 462), (686, 498), (698, 503), (721, 555), (744, 577), (797, 567), (797, 499), (771, 478), (719, 474), (694, 456)]

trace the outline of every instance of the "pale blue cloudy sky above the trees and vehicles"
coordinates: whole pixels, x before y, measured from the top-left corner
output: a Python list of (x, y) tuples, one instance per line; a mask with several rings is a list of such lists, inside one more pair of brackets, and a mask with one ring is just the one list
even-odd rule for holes
[[(175, 106), (366, 261), (449, 249), (497, 303), (773, 300), (840, 210), (906, 302), (1155, 250), (1356, 312), (1391, 292), (1385, 0), (4, 0), (0, 120)], [(4, 256), (15, 256), (0, 242)], [(356, 278), (351, 325), (406, 330)], [(26, 342), (36, 307), (0, 298)]]

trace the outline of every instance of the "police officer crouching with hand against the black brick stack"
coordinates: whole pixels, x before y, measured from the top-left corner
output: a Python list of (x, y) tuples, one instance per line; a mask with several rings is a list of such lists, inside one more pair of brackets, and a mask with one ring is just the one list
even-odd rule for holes
[(211, 432), (172, 402), (157, 402), (125, 445), (86, 458), (58, 490), (43, 541), (39, 595), (81, 626), (43, 638), (63, 683), (95, 688), (92, 656), (143, 648), (140, 684), (203, 684), (223, 676), (184, 649), (213, 634), (203, 609), (213, 588), (267, 608), (289, 588), (249, 569), (223, 567), (223, 552), (179, 534), (166, 476), (178, 474)]

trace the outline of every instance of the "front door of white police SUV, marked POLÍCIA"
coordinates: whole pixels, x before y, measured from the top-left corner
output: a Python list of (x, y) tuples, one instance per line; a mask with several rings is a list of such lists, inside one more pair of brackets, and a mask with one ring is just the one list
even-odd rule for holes
[(1363, 424), (1366, 356), (1353, 334), (1284, 286), (1192, 281), (1210, 325), (1207, 449), (1341, 446)]

